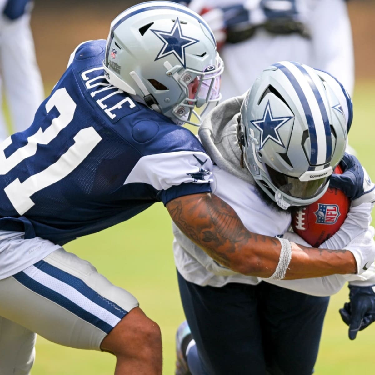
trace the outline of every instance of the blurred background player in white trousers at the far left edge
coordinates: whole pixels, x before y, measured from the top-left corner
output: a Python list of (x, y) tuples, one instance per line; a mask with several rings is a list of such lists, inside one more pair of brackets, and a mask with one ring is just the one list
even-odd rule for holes
[[(5, 93), (12, 132), (33, 122), (44, 99), (30, 28), (33, 1), (0, 0), (0, 102)], [(0, 142), (9, 136), (6, 115), (0, 111)]]

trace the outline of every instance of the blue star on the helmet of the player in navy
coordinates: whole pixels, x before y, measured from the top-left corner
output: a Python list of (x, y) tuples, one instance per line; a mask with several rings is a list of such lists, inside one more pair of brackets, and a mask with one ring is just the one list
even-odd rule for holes
[(177, 60), (186, 68), (185, 49), (195, 43), (198, 43), (198, 39), (194, 39), (182, 34), (180, 20), (175, 20), (173, 23), (172, 30), (151, 30), (162, 42), (163, 46), (157, 54), (154, 61), (160, 58), (174, 55)]

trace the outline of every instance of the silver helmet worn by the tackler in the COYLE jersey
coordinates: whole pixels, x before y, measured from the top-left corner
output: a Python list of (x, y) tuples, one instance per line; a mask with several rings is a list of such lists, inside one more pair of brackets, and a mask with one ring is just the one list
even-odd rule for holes
[(111, 84), (178, 123), (199, 125), (205, 108), (200, 115), (194, 108), (220, 100), (223, 63), (212, 31), (171, 1), (141, 3), (116, 17), (103, 65)]

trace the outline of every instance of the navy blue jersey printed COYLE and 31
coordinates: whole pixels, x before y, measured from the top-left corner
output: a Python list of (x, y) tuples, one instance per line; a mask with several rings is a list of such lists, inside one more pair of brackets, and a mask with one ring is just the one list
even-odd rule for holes
[(210, 192), (198, 139), (110, 85), (82, 43), (31, 126), (0, 144), (0, 230), (63, 245), (178, 196)]

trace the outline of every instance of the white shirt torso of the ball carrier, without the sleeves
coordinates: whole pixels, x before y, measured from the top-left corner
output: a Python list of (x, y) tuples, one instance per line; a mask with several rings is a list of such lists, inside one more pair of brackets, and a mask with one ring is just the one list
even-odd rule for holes
[[(229, 174), (214, 165), (215, 183), (212, 184), (213, 193), (223, 199), (236, 211), (243, 224), (249, 231), (266, 236), (282, 236), (290, 226), (290, 214), (276, 210), (267, 205), (258, 193), (257, 188), (248, 182)], [(234, 273), (219, 266), (204, 251), (191, 242), (173, 225), (175, 240), (173, 243), (175, 264), (178, 272), (187, 281), (198, 285), (221, 287), (229, 282), (258, 284), (261, 279)], [(210, 272), (219, 268), (217, 276)]]

